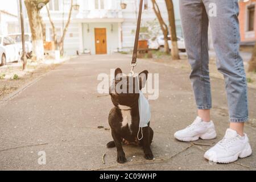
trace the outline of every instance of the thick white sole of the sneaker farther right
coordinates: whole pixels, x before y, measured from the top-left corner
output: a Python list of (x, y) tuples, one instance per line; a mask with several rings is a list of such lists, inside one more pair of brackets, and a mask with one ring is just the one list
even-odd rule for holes
[[(238, 160), (238, 158), (247, 158), (252, 154), (252, 150), (250, 147), (250, 144), (247, 144), (245, 150), (243, 150), (242, 152), (238, 152), (236, 155), (230, 156), (229, 158), (222, 158), (222, 159), (218, 159), (217, 161), (214, 161), (216, 163), (221, 163), (221, 164), (228, 164), (228, 163), (233, 163), (236, 160)], [(204, 155), (204, 158), (209, 160), (209, 156)]]

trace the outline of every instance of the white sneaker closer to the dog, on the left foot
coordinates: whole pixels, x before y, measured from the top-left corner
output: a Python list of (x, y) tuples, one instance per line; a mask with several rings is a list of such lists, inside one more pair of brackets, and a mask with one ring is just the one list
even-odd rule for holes
[(184, 130), (177, 131), (174, 137), (183, 142), (191, 142), (201, 139), (216, 138), (216, 131), (212, 121), (204, 122), (200, 117), (196, 117), (192, 125), (189, 125)]

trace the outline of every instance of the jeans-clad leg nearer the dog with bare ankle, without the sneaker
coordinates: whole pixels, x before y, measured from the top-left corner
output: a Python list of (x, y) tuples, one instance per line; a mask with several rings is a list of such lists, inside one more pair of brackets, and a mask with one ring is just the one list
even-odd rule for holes
[(195, 94), (198, 115), (210, 121), (212, 107), (208, 55), (208, 16), (199, 0), (180, 0), (180, 14), (185, 46), (192, 72), (190, 79)]

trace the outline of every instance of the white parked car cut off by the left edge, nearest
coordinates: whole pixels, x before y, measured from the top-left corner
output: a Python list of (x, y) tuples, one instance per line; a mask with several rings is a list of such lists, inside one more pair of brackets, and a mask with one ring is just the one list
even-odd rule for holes
[(0, 65), (19, 61), (19, 46), (10, 36), (0, 35)]

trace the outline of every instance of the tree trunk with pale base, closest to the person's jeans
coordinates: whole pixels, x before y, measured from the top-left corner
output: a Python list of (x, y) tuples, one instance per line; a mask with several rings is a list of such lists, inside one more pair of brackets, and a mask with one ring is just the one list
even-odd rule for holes
[(172, 48), (171, 48), (172, 60), (178, 60), (180, 59), (180, 56), (179, 56), (179, 48), (177, 46), (174, 3), (172, 2), (172, 0), (165, 0), (165, 1), (166, 1), (166, 7), (168, 11), (169, 30), (171, 34), (171, 40), (172, 40)]

